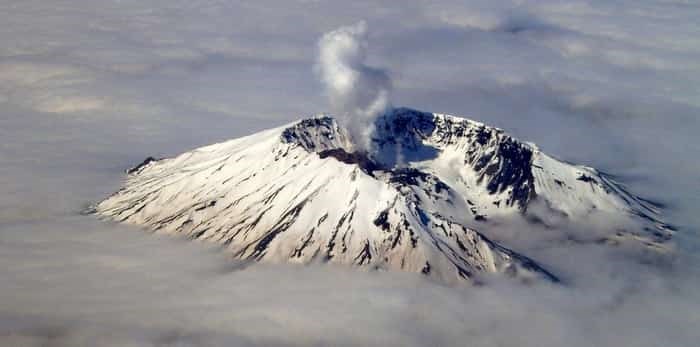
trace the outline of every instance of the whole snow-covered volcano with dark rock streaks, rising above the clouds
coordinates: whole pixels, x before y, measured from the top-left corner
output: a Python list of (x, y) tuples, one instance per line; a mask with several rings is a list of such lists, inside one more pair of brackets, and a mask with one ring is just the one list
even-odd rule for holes
[[(657, 208), (595, 169), (558, 161), (500, 129), (395, 109), (370, 153), (330, 117), (149, 158), (95, 207), (111, 219), (225, 245), (235, 258), (330, 262), (422, 272), (442, 280), (505, 273), (557, 281), (528, 256), (478, 231), (533, 203), (585, 221), (604, 211), (634, 222), (602, 241), (663, 249)], [(539, 223), (543, 223), (541, 220)]]

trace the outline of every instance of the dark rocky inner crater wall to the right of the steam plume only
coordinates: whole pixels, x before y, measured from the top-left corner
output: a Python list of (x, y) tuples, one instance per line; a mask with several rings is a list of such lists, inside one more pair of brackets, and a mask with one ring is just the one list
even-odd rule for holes
[(382, 162), (386, 161), (382, 151), (401, 153), (404, 162), (410, 162), (431, 159), (441, 148), (460, 144), (465, 148), (464, 163), (477, 172), (479, 183), (491, 194), (508, 192), (504, 204), (525, 211), (536, 196), (532, 149), (500, 129), (410, 109), (380, 117), (376, 129), (374, 142)]

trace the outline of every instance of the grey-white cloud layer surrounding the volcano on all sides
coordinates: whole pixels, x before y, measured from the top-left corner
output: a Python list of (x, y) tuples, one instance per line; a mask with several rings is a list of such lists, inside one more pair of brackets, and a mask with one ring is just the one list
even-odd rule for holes
[[(2, 1), (0, 344), (692, 346), (697, 18), (695, 1), (660, 0)], [(676, 257), (535, 247), (570, 286), (446, 287), (246, 267), (80, 214), (149, 155), (331, 110), (319, 39), (362, 21), (391, 104), (498, 126), (614, 175), (666, 206)]]

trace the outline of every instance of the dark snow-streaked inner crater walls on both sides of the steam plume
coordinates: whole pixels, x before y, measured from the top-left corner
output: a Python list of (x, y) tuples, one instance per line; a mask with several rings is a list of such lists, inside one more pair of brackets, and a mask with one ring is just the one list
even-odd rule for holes
[[(444, 148), (459, 146), (464, 151), (464, 164), (477, 173), (478, 183), (485, 185), (490, 194), (507, 195), (499, 204), (517, 206), (525, 212), (536, 197), (530, 146), (501, 129), (466, 119), (407, 108), (391, 110), (376, 119), (369, 153), (349, 151), (348, 136), (330, 117), (305, 119), (287, 128), (282, 140), (316, 152), (321, 158), (357, 164), (370, 175), (431, 160)], [(400, 174), (397, 177), (409, 178), (405, 172), (396, 173)]]

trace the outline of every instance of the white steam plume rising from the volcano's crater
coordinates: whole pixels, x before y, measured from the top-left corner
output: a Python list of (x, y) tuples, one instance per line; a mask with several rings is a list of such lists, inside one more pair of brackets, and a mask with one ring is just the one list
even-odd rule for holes
[(374, 118), (390, 107), (391, 80), (386, 71), (366, 64), (367, 25), (362, 21), (328, 32), (318, 46), (316, 72), (333, 112), (354, 145), (368, 150)]

